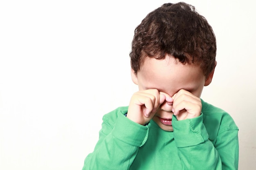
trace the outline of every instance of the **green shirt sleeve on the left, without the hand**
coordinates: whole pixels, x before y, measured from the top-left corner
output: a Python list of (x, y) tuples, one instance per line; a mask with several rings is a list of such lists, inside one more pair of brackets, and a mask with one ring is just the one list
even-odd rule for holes
[(99, 141), (86, 158), (83, 170), (128, 170), (139, 146), (148, 136), (148, 127), (136, 124), (121, 113), (115, 124), (103, 117)]

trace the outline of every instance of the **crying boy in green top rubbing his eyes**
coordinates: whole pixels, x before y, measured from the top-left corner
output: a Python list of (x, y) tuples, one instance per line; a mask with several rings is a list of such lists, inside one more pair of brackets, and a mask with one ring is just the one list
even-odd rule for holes
[(104, 115), (83, 170), (237, 170), (238, 128), (200, 95), (213, 78), (216, 38), (186, 3), (163, 4), (135, 29), (139, 91)]

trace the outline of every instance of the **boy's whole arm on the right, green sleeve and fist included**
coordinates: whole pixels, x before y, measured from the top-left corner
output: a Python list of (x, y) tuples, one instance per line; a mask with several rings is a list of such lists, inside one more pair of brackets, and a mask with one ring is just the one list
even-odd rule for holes
[[(238, 128), (233, 119), (224, 111), (215, 110), (213, 116), (218, 118), (209, 119), (206, 128), (200, 98), (184, 90), (173, 98), (173, 134), (183, 169), (237, 170)], [(209, 140), (213, 134), (216, 142)]]

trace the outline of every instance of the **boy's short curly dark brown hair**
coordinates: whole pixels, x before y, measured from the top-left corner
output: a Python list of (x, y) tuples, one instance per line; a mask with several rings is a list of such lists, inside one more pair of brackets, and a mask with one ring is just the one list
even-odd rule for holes
[(148, 13), (135, 31), (130, 52), (131, 67), (137, 74), (146, 57), (164, 59), (172, 55), (183, 64), (198, 64), (205, 76), (213, 71), (216, 38), (207, 20), (195, 7), (166, 3)]

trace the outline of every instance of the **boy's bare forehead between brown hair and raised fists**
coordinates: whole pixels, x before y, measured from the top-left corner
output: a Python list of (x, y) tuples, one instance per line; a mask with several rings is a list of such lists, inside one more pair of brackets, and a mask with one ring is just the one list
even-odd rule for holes
[(200, 66), (182, 64), (172, 56), (163, 60), (147, 57), (137, 73), (137, 79), (141, 89), (157, 88), (170, 95), (180, 89), (195, 91), (204, 83)]

